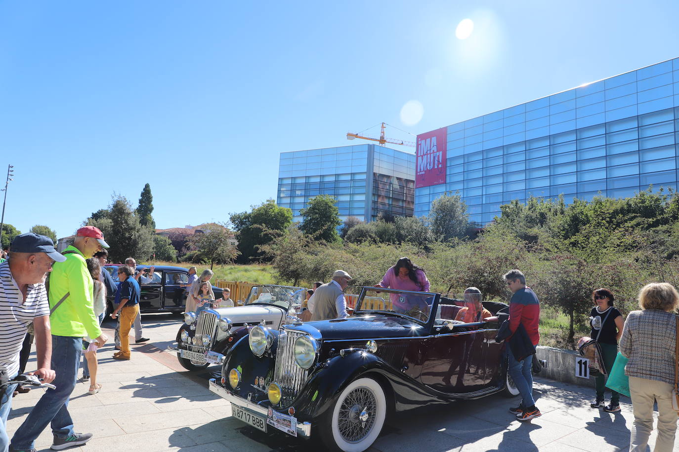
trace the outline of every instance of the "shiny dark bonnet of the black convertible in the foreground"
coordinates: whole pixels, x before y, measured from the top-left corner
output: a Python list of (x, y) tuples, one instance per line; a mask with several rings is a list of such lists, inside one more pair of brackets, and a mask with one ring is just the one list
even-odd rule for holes
[(314, 328), (324, 341), (374, 339), (382, 337), (418, 337), (426, 335), (427, 327), (399, 316), (371, 314), (291, 325), (292, 329)]

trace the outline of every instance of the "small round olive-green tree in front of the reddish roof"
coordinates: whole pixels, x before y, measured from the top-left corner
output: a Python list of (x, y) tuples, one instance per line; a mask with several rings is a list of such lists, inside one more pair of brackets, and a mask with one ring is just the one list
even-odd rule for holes
[(187, 247), (190, 251), (198, 251), (193, 256), (193, 262), (209, 262), (210, 268), (214, 264), (229, 264), (238, 256), (234, 232), (217, 223), (204, 224), (205, 232), (196, 232)]

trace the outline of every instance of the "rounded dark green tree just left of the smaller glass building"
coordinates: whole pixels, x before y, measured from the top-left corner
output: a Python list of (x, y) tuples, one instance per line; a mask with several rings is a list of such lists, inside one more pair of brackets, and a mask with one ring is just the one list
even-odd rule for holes
[(279, 207), (273, 199), (251, 209), (230, 218), (238, 237), (238, 262), (242, 264), (270, 260), (261, 248), (272, 241), (272, 234), (285, 231), (293, 221), (293, 211)]

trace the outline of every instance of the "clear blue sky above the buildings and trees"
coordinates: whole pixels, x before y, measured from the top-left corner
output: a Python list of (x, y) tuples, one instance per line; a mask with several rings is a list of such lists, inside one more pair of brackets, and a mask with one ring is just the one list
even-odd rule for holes
[(113, 192), (136, 206), (147, 182), (159, 228), (223, 222), (275, 199), (280, 152), (380, 121), (421, 133), (676, 58), (677, 17), (669, 0), (5, 1), (5, 222), (63, 237)]

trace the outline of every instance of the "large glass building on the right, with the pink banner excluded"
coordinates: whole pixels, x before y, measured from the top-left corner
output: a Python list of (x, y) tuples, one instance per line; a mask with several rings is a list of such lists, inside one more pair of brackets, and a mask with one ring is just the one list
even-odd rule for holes
[(513, 199), (676, 188), (678, 143), (676, 58), (449, 125), (445, 184), (416, 188), (415, 215), (444, 192), (485, 224)]

